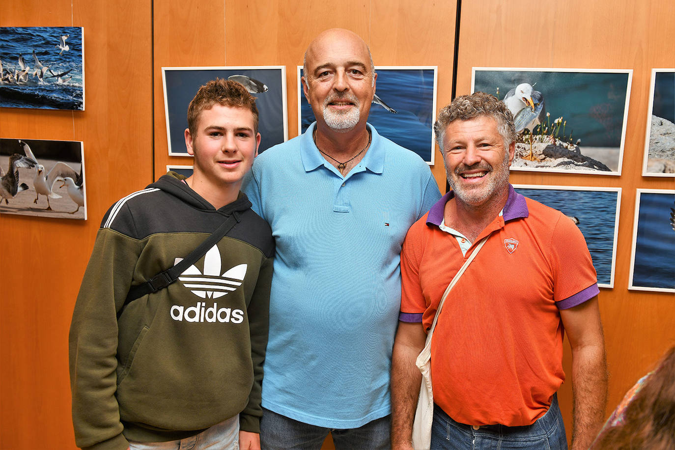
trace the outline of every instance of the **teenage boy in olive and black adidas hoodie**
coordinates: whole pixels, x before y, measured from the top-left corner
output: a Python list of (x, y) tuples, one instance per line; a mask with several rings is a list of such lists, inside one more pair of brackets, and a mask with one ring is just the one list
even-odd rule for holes
[[(239, 190), (257, 125), (241, 84), (201, 86), (185, 130), (192, 176), (169, 172), (103, 217), (70, 328), (78, 446), (259, 448), (274, 242)], [(236, 225), (177, 281), (125, 302), (231, 216)]]

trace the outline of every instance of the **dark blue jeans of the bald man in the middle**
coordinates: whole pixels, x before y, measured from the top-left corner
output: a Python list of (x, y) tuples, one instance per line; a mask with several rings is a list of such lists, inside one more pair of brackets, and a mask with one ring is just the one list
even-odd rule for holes
[(331, 433), (335, 449), (338, 450), (385, 450), (391, 448), (390, 432), (390, 416), (375, 419), (358, 428), (339, 430), (298, 422), (263, 408), (260, 444), (263, 450), (319, 450), (328, 433)]

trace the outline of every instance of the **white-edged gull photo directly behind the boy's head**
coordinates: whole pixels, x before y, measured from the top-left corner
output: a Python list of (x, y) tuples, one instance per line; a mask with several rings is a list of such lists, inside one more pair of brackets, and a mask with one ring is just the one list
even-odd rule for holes
[(288, 140), (286, 66), (162, 67), (169, 155), (190, 156), (184, 136), (188, 106), (199, 87), (215, 78), (240, 82), (256, 97), (258, 131), (262, 136), (259, 153)]

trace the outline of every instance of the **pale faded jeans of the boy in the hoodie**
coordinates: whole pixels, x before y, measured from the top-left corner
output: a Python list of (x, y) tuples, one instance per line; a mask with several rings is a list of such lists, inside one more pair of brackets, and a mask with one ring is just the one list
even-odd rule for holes
[(129, 441), (129, 448), (131, 450), (238, 450), (239, 415), (185, 439), (167, 442)]

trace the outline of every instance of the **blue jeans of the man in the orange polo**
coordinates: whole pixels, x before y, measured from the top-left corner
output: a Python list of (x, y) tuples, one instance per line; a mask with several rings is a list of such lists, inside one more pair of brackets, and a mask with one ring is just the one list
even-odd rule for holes
[(440, 407), (434, 405), (431, 449), (566, 450), (567, 438), (558, 407), (558, 397), (553, 395), (549, 410), (531, 425), (485, 425), (478, 430), (455, 422)]

